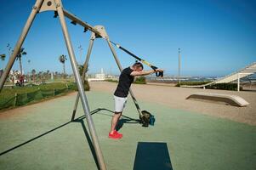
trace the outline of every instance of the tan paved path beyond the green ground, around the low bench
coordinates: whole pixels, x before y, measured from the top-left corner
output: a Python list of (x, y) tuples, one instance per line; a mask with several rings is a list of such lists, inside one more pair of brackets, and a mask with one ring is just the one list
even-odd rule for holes
[[(115, 88), (117, 88), (117, 83), (114, 82), (90, 82), (90, 84), (93, 91), (108, 92), (110, 94), (113, 94)], [(132, 88), (135, 97), (139, 100), (166, 105), (170, 108), (182, 109), (185, 111), (196, 111), (201, 114), (222, 117), (256, 126), (256, 92), (177, 88), (171, 86), (159, 86), (159, 83), (158, 86), (133, 84)], [(247, 107), (236, 107), (186, 99), (191, 94), (198, 92), (238, 95), (247, 100), (250, 105), (247, 105)]]

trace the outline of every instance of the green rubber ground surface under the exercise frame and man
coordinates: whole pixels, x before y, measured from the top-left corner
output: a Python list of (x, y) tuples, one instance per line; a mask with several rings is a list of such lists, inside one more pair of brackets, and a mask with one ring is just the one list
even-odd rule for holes
[[(111, 94), (87, 94), (91, 111), (113, 110)], [(74, 100), (75, 96), (51, 99), (29, 106), (26, 113), (1, 118), (0, 169), (97, 169), (84, 130), (86, 119), (82, 119), (84, 123), (69, 122)], [(175, 170), (256, 169), (256, 127), (174, 110), (171, 105), (169, 108), (139, 103), (142, 109), (155, 115), (155, 126), (145, 128), (138, 123), (123, 123), (120, 132), (124, 136), (120, 140), (107, 137), (111, 112), (99, 111), (93, 116), (108, 169), (139, 169), (134, 167), (138, 142), (167, 144), (169, 169), (170, 166)], [(138, 118), (131, 99), (123, 114)], [(77, 117), (82, 115), (79, 105)], [(149, 157), (159, 161), (157, 154)], [(140, 157), (136, 162), (145, 159)], [(149, 163), (153, 165), (154, 161)]]

